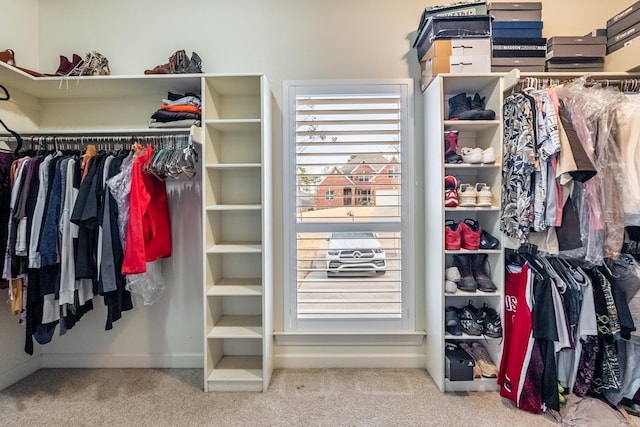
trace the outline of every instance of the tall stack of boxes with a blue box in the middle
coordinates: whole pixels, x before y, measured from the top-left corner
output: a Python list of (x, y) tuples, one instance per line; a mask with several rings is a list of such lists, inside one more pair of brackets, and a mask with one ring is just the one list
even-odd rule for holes
[(542, 3), (494, 2), (488, 11), (494, 18), (491, 71), (544, 71), (547, 40), (542, 38)]

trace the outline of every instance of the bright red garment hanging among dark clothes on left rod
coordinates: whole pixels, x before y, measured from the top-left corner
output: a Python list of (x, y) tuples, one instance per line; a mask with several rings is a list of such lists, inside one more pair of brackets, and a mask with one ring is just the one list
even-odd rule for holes
[(153, 157), (153, 147), (147, 146), (133, 162), (129, 221), (122, 274), (147, 271), (146, 262), (171, 256), (171, 220), (165, 182), (143, 171)]

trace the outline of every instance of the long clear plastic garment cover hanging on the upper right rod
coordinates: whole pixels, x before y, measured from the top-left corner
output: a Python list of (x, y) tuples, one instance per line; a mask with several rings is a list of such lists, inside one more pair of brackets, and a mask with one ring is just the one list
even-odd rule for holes
[(584, 79), (558, 90), (571, 121), (598, 173), (582, 186), (579, 206), (583, 248), (568, 256), (602, 265), (604, 258), (616, 259), (624, 241), (622, 195), (625, 180), (620, 150), (615, 143), (617, 106), (624, 94), (608, 88), (586, 88)]

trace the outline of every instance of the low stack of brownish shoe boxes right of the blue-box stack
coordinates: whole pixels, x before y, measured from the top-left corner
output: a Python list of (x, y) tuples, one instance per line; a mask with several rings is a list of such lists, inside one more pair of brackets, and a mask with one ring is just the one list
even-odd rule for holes
[(580, 37), (551, 37), (547, 42), (547, 71), (604, 71), (607, 37), (595, 30)]

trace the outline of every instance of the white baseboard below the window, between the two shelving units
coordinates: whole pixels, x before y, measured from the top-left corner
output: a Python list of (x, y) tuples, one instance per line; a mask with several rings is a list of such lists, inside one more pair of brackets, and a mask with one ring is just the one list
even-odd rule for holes
[(303, 368), (424, 368), (424, 354), (277, 354), (274, 367)]

